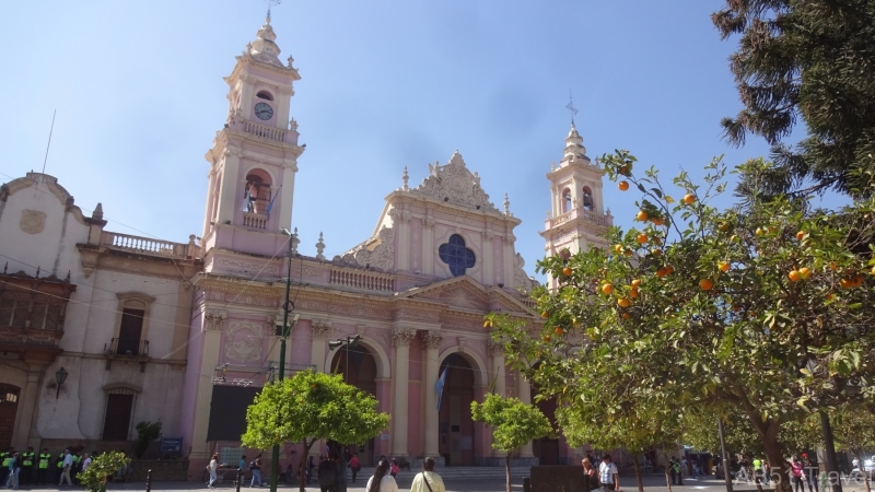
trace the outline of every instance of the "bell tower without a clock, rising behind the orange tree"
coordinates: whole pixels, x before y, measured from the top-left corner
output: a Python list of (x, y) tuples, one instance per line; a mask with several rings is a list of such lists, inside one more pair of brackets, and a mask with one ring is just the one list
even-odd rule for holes
[(574, 121), (565, 137), (565, 150), (559, 166), (550, 165), (551, 211), (547, 212), (544, 232), (545, 251), (556, 255), (563, 248), (572, 254), (592, 246), (607, 247), (604, 234), (614, 224), (610, 210), (602, 198), (602, 168), (586, 156), (583, 138)]

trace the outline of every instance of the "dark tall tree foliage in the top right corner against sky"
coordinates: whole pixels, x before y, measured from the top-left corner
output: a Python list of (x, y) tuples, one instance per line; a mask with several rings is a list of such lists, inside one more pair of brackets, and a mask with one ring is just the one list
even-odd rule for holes
[[(727, 139), (747, 133), (772, 145), (778, 166), (759, 183), (772, 195), (802, 187), (870, 192), (854, 171), (875, 154), (875, 2), (872, 0), (726, 0), (712, 15), (725, 39), (740, 35), (730, 57), (744, 108), (724, 118)], [(782, 143), (798, 119), (807, 137)]]

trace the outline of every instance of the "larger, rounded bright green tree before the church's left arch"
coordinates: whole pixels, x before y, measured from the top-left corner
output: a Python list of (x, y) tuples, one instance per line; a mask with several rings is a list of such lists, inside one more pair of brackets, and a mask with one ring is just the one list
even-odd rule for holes
[[(340, 375), (302, 371), (261, 389), (246, 410), (241, 441), (259, 449), (302, 442), (302, 456), (319, 440), (360, 443), (388, 424), (388, 413), (377, 412), (376, 405), (376, 398), (343, 383)], [(303, 471), (304, 460), (299, 473)], [(303, 492), (305, 480), (300, 483)]]

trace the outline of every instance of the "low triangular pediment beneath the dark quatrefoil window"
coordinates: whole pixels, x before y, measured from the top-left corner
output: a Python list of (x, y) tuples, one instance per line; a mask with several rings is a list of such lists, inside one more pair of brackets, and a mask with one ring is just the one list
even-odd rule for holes
[(399, 298), (421, 300), (444, 304), (451, 308), (481, 311), (485, 313), (502, 311), (520, 315), (532, 315), (521, 301), (501, 288), (483, 286), (470, 277), (462, 276), (410, 289), (398, 293)]

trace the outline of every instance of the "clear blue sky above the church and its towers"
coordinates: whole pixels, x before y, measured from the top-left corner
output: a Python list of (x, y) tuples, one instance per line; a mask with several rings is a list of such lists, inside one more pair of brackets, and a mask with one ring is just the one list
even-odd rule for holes
[[(281, 59), (294, 56), (299, 162), (294, 225), (304, 254), (365, 239), (384, 197), (458, 149), (498, 207), (523, 220), (516, 248), (534, 272), (549, 210), (545, 173), (561, 157), (569, 90), (591, 157), (629, 149), (666, 178), (734, 149), (720, 118), (740, 108), (727, 66), (735, 39), (710, 22), (722, 1), (284, 0)], [(46, 173), (108, 230), (185, 242), (201, 233), (203, 160), (226, 113), (228, 75), (265, 16), (258, 0), (8, 1), (0, 93), (0, 181)], [(632, 191), (605, 185), (615, 223)], [(727, 201), (728, 202), (728, 201)], [(139, 231), (129, 229), (136, 227)]]

